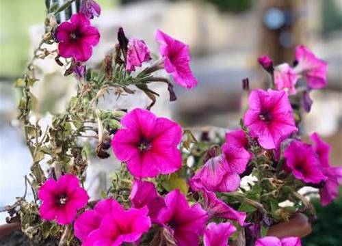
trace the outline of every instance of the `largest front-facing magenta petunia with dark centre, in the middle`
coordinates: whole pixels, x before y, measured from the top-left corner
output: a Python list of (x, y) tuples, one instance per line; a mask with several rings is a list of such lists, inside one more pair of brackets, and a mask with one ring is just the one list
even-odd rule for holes
[(145, 109), (133, 109), (121, 120), (122, 129), (114, 135), (111, 146), (120, 161), (127, 162), (135, 177), (155, 177), (181, 168), (182, 138), (179, 124), (157, 118)]

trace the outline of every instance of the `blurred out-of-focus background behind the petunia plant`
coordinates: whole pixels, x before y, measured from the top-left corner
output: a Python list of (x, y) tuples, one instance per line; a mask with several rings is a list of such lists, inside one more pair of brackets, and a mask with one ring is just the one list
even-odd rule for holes
[[(94, 49), (88, 66), (100, 62), (113, 48), (118, 27), (124, 27), (129, 37), (144, 39), (155, 54), (156, 29), (189, 44), (198, 87), (191, 92), (176, 87), (179, 98), (176, 102), (161, 99), (155, 107), (157, 114), (168, 115), (183, 126), (236, 128), (246, 106), (241, 80), (248, 77), (250, 87), (255, 88), (262, 87), (266, 79), (257, 57), (267, 54), (276, 64), (292, 64), (295, 46), (305, 44), (328, 61), (328, 86), (313, 92), (313, 108), (304, 117), (303, 131), (321, 134), (332, 144), (332, 164), (342, 165), (342, 0), (98, 0), (98, 3), (103, 12), (93, 24), (101, 32), (101, 43)], [(42, 0), (0, 0), (0, 206), (23, 195), (23, 176), (31, 164), (16, 120), (18, 92), (13, 85), (40, 40), (44, 16)], [(63, 20), (65, 15), (60, 18)], [(62, 77), (62, 69), (53, 59), (44, 62), (44, 66), (40, 64), (40, 76), (44, 83), (36, 83), (39, 85), (34, 88), (41, 101), (37, 111), (43, 119), (49, 119), (65, 107), (75, 92), (75, 81)], [(124, 107), (129, 102), (107, 98), (103, 105)], [(139, 102), (140, 106), (144, 103)], [(334, 215), (340, 216), (337, 228), (341, 229), (342, 199), (332, 206), (339, 211)], [(329, 209), (319, 210), (319, 213), (328, 212)], [(324, 221), (318, 217), (317, 223)], [(324, 229), (315, 232), (318, 231)], [(334, 238), (330, 236), (330, 244), (317, 244), (313, 242), (317, 238), (309, 237), (304, 245), (339, 245)]]

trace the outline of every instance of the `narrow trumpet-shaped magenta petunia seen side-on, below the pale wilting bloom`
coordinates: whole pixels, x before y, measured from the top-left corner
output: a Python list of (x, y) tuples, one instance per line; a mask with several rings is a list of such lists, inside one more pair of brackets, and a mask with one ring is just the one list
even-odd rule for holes
[(246, 219), (246, 213), (239, 212), (223, 202), (222, 200), (216, 197), (213, 192), (202, 192), (203, 197), (205, 199), (205, 204), (203, 207), (207, 210), (209, 219), (213, 218), (222, 218), (222, 219), (231, 219), (233, 221), (237, 221), (240, 226), (244, 225), (244, 221)]

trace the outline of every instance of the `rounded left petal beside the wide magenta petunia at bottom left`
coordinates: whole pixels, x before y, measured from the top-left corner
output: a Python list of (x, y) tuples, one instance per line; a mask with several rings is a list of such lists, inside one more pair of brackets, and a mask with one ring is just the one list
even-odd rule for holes
[(101, 217), (94, 210), (81, 213), (74, 223), (75, 236), (81, 241), (85, 240), (90, 232), (98, 229), (100, 223)]

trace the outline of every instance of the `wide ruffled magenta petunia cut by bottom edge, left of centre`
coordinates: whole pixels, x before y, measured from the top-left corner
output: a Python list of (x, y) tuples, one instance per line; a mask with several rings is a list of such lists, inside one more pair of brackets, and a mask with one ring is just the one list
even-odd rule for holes
[(107, 213), (98, 229), (92, 231), (84, 245), (114, 246), (122, 243), (134, 243), (142, 234), (148, 232), (151, 222), (148, 208), (122, 207)]

